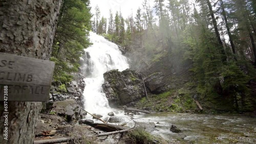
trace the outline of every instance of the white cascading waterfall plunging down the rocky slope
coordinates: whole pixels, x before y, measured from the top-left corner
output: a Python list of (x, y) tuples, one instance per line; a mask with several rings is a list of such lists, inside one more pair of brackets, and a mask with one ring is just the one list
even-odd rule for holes
[(106, 115), (111, 111), (101, 85), (104, 83), (103, 74), (111, 69), (119, 71), (129, 68), (127, 59), (121, 54), (118, 46), (104, 37), (90, 32), (90, 41), (93, 43), (85, 49), (85, 63), (83, 65), (86, 79), (84, 88), (84, 107), (90, 113)]

